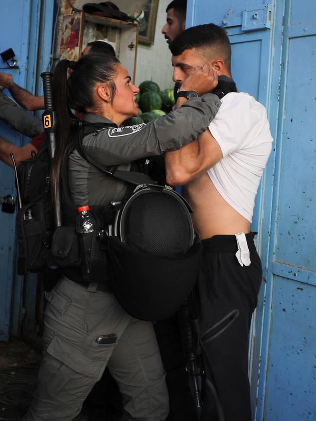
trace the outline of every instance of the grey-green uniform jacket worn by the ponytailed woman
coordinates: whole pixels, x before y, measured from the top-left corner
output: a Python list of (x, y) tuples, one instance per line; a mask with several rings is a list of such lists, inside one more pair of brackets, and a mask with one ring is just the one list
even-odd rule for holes
[[(129, 170), (132, 161), (179, 149), (196, 139), (209, 126), (219, 107), (216, 95), (205, 94), (150, 123), (98, 130), (83, 138), (83, 147), (105, 169)], [(85, 119), (92, 123), (111, 123), (91, 113)], [(76, 150), (70, 154), (68, 179), (71, 200), (78, 206), (122, 200), (126, 191), (126, 183), (102, 173)]]

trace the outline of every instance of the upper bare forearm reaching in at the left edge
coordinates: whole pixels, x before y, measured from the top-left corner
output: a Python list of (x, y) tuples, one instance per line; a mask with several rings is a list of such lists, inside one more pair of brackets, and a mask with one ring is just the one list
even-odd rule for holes
[(35, 95), (14, 83), (12, 75), (0, 72), (0, 86), (7, 88), (19, 105), (29, 111), (44, 109), (44, 97)]

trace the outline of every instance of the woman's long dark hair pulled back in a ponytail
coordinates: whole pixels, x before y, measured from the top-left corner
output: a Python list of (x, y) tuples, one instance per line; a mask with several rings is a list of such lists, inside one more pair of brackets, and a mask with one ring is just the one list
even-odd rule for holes
[[(97, 82), (105, 83), (111, 90), (111, 101), (116, 93), (113, 78), (120, 64), (111, 55), (87, 54), (77, 62), (61, 60), (53, 75), (53, 98), (57, 116), (56, 151), (52, 166), (52, 185), (54, 191), (59, 183), (63, 158), (72, 148), (76, 121), (71, 109), (84, 113), (88, 108), (95, 108), (94, 86)], [(71, 73), (67, 79), (68, 69)]]

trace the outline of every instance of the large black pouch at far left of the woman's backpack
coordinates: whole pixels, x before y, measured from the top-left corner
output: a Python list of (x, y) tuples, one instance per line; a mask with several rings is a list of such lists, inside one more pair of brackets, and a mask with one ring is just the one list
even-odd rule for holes
[(52, 213), (46, 201), (29, 203), (18, 211), (18, 274), (39, 272), (51, 260)]

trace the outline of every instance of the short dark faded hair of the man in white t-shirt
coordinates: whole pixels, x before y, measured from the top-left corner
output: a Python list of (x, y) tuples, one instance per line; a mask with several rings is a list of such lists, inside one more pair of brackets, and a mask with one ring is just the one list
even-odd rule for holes
[(225, 29), (214, 23), (186, 29), (169, 44), (169, 48), (174, 56), (182, 54), (185, 50), (196, 48), (206, 61), (216, 58), (222, 59), (230, 73), (231, 48), (229, 38)]

